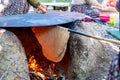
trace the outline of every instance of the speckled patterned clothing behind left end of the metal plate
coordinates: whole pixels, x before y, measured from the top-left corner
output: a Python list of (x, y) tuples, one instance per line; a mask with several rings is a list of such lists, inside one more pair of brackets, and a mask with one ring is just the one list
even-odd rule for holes
[(0, 0), (0, 5), (3, 8), (0, 15), (23, 14), (29, 9), (27, 0)]

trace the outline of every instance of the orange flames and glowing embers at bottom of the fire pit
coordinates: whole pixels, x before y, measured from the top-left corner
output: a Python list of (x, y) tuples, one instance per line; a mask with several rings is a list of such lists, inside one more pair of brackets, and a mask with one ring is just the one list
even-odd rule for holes
[(31, 80), (65, 80), (65, 77), (55, 70), (55, 63), (51, 63), (47, 68), (43, 69), (42, 66), (37, 63), (34, 56), (31, 56), (28, 65)]

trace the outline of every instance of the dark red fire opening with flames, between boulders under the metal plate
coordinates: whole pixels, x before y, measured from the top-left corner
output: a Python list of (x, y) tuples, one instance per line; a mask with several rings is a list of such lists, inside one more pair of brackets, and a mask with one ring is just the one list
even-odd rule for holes
[(54, 63), (43, 56), (41, 45), (31, 28), (8, 28), (8, 30), (12, 31), (19, 38), (25, 49), (31, 80), (67, 79), (70, 62), (68, 50), (66, 50), (62, 61)]

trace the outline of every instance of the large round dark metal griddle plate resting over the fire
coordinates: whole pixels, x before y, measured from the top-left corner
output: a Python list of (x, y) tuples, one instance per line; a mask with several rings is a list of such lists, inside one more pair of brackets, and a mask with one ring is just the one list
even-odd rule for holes
[[(70, 16), (71, 15), (71, 16)], [(75, 17), (77, 15), (77, 17)], [(52, 13), (29, 13), (13, 16), (0, 17), (0, 27), (32, 27), (32, 26), (54, 26), (74, 22), (81, 19), (78, 13), (52, 12)]]

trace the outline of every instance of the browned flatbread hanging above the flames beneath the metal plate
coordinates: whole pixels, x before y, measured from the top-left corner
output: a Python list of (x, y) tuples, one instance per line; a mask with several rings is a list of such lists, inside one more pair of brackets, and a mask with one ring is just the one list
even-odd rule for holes
[(43, 55), (50, 61), (60, 62), (67, 48), (69, 32), (59, 27), (33, 27), (32, 31), (42, 46)]

